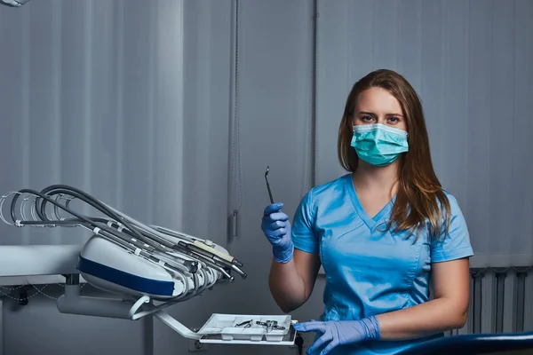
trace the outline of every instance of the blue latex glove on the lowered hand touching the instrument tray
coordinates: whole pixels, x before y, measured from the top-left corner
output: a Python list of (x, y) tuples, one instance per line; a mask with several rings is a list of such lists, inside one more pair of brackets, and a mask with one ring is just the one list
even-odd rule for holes
[(309, 347), (307, 355), (311, 355), (322, 346), (325, 348), (320, 355), (326, 355), (339, 345), (360, 343), (365, 340), (379, 339), (379, 322), (374, 316), (361, 320), (311, 320), (296, 323), (294, 329), (298, 332), (318, 332), (322, 335)]

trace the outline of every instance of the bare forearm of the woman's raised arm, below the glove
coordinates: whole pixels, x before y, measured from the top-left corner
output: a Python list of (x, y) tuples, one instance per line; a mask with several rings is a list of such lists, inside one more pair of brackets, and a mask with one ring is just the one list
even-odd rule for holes
[(280, 264), (274, 259), (268, 279), (270, 292), (283, 312), (291, 312), (306, 302), (306, 284), (299, 275), (294, 259)]

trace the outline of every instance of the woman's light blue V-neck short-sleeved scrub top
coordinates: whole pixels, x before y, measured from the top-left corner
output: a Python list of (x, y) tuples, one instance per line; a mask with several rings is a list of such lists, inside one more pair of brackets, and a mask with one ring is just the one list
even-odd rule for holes
[[(322, 320), (362, 319), (393, 312), (429, 299), (431, 264), (473, 256), (465, 218), (457, 200), (449, 235), (432, 244), (408, 232), (386, 231), (394, 199), (370, 217), (355, 193), (352, 174), (314, 187), (300, 202), (292, 222), (295, 248), (319, 254), (326, 273)], [(412, 234), (412, 233), (411, 233)], [(331, 355), (395, 354), (431, 337), (371, 341), (338, 347)]]

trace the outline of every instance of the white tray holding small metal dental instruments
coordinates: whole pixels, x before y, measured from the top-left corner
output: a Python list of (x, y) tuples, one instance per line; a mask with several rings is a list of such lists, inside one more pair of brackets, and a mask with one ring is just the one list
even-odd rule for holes
[(214, 313), (197, 333), (201, 343), (293, 343), (292, 323), (290, 315)]

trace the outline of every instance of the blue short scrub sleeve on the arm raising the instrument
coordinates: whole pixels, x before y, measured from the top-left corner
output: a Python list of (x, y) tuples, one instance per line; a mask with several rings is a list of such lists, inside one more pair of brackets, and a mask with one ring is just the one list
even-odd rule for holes
[(314, 234), (313, 190), (306, 193), (298, 205), (292, 221), (292, 243), (294, 248), (318, 254), (319, 243)]

